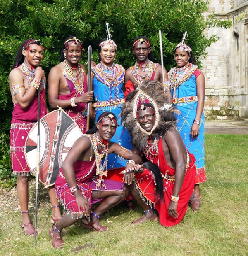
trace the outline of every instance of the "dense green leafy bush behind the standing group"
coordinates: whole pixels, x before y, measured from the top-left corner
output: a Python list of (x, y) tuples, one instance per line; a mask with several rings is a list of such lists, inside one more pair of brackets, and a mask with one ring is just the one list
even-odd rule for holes
[(9, 128), (12, 99), (9, 91), (9, 72), (17, 48), (25, 39), (41, 39), (45, 47), (42, 67), (46, 75), (59, 63), (60, 49), (68, 35), (76, 35), (83, 42), (83, 62), (87, 48), (93, 47), (93, 60), (98, 62), (98, 42), (106, 37), (105, 22), (110, 23), (112, 38), (116, 42), (115, 62), (124, 68), (133, 65), (134, 38), (145, 35), (150, 39), (155, 61), (160, 62), (158, 30), (162, 30), (164, 65), (173, 65), (173, 49), (181, 41), (185, 30), (200, 64), (205, 49), (218, 39), (204, 36), (204, 28), (227, 28), (229, 21), (206, 20), (202, 13), (207, 1), (198, 0), (0, 0), (0, 179), (10, 178)]

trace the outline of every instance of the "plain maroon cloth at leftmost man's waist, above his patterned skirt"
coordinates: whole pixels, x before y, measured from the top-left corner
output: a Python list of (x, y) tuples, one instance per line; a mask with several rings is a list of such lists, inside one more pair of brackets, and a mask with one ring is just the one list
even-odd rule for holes
[[(40, 92), (40, 118), (47, 114), (47, 109), (45, 106), (45, 93), (46, 90), (43, 89)], [(38, 96), (34, 95), (33, 100), (29, 103), (26, 109), (22, 109), (21, 106), (16, 103), (12, 112), (13, 119), (37, 122), (37, 112), (38, 112)]]

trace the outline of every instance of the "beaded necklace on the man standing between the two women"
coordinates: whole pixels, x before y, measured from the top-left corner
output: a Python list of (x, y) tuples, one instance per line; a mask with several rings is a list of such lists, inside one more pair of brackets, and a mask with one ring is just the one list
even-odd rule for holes
[(150, 80), (150, 78), (152, 77), (152, 74), (154, 72), (153, 62), (150, 60), (147, 61), (146, 65), (144, 67), (144, 68), (146, 68), (146, 70), (148, 68), (148, 72), (145, 75), (140, 75), (141, 71), (145, 72), (145, 69), (142, 70), (142, 68), (143, 67), (137, 61), (133, 67), (130, 67), (133, 77), (138, 86), (140, 86), (142, 82)]

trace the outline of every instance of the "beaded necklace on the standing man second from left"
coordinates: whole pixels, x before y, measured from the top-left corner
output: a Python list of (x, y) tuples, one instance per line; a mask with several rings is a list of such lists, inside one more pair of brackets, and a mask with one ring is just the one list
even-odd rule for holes
[[(77, 92), (80, 93), (80, 95), (84, 94), (84, 70), (81, 67), (80, 64), (77, 65), (77, 68), (72, 68), (68, 62), (66, 60), (64, 60), (62, 62), (62, 65), (64, 67), (64, 72), (63, 74), (65, 75), (65, 77), (67, 77), (69, 80), (72, 81), (72, 83), (74, 84), (74, 89), (77, 90)], [(75, 70), (76, 70), (76, 74), (75, 74)], [(79, 83), (78, 83), (79, 82)]]

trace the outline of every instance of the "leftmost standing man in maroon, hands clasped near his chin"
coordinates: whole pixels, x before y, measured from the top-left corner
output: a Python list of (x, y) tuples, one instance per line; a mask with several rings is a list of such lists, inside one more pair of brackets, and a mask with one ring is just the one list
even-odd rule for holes
[[(17, 175), (17, 194), (21, 206), (22, 228), (25, 235), (33, 235), (34, 227), (28, 209), (28, 179), (31, 174), (24, 156), (24, 145), (29, 131), (37, 122), (38, 96), (40, 88), (40, 118), (47, 114), (45, 86), (47, 80), (40, 62), (43, 46), (40, 40), (27, 39), (17, 51), (9, 75), (10, 92), (14, 104), (10, 128), (10, 152), (14, 175)], [(58, 205), (55, 190), (48, 189), (52, 205)], [(59, 208), (52, 208), (52, 218), (61, 217)]]

